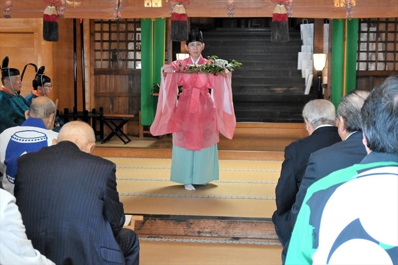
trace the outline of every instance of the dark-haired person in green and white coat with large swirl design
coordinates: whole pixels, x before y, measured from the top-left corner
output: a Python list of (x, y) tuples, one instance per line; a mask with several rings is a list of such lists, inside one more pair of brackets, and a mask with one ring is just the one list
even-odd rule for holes
[(395, 76), (361, 109), (368, 155), (307, 189), (286, 264), (398, 264), (397, 113)]

